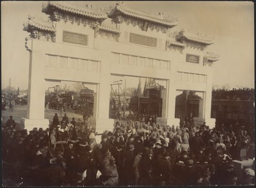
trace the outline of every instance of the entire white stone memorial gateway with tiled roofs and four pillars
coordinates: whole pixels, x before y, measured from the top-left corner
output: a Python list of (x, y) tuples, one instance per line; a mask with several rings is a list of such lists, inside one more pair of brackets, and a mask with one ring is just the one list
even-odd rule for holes
[(202, 92), (195, 121), (214, 127), (211, 118), (212, 63), (219, 59), (205, 48), (214, 39), (202, 34), (172, 31), (177, 19), (150, 15), (116, 3), (109, 10), (58, 1), (44, 2), (49, 20), (29, 16), (24, 31), (29, 51), (28, 113), (25, 129), (47, 128), (44, 118), (45, 81), (76, 81), (97, 86), (93, 117), (96, 132), (113, 130), (109, 118), (111, 75), (166, 81), (159, 123), (179, 125), (175, 118), (177, 91)]

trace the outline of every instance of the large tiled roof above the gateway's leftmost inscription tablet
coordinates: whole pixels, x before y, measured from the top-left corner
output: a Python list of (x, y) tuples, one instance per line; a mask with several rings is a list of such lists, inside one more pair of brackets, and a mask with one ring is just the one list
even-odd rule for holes
[(77, 6), (76, 4), (66, 3), (64, 1), (49, 1), (43, 3), (42, 12), (48, 13), (49, 7), (53, 6), (65, 12), (75, 13), (77, 15), (84, 15), (86, 17), (91, 17), (93, 19), (107, 19), (106, 13), (93, 10), (93, 8), (88, 8), (86, 6)]

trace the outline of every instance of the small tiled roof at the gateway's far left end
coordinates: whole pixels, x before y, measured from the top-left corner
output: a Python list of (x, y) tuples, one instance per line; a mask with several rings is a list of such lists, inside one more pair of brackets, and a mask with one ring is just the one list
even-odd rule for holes
[(45, 30), (45, 31), (52, 31), (52, 32), (56, 31), (55, 27), (53, 26), (50, 20), (45, 21), (45, 20), (38, 19), (31, 16), (28, 16), (28, 22), (24, 23), (23, 26), (24, 26), (24, 29), (23, 29), (24, 31), (29, 31), (29, 27), (31, 26), (36, 27), (38, 29)]

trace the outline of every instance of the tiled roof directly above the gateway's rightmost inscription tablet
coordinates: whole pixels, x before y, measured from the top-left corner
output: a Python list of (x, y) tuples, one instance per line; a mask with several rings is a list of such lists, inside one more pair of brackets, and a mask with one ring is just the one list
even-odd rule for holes
[(191, 40), (194, 42), (204, 43), (205, 45), (210, 45), (214, 43), (214, 38), (202, 35), (198, 33), (197, 35), (190, 35), (189, 33), (186, 33), (184, 30), (179, 32), (179, 35), (177, 36), (177, 40), (180, 38), (186, 38), (186, 40)]

